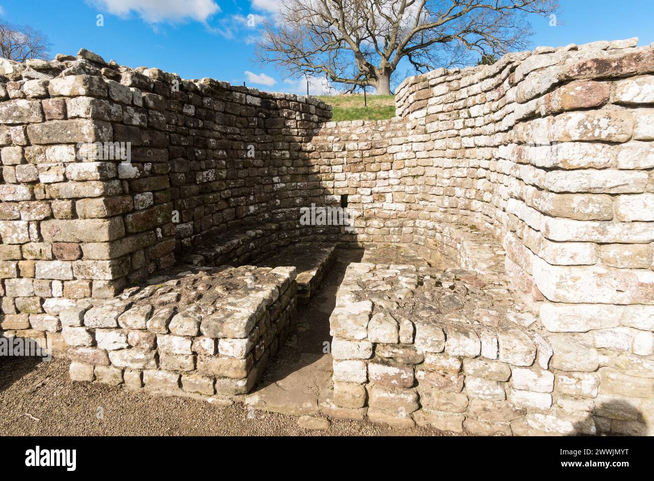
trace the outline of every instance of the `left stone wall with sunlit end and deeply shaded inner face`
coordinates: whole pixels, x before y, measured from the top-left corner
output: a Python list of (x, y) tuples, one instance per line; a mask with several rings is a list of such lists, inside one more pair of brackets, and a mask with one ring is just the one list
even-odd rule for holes
[(312, 234), (297, 209), (317, 188), (301, 146), (331, 116), (317, 99), (83, 49), (3, 60), (0, 75), (3, 331), (61, 347), (61, 310), (111, 298), (218, 234), (273, 223), (228, 258)]

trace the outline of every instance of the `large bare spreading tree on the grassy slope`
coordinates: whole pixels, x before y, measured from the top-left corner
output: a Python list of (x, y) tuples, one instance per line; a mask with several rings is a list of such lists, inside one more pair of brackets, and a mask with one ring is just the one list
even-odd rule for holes
[(528, 14), (557, 0), (284, 0), (256, 56), (301, 75), (390, 94), (402, 59), (418, 72), (523, 49)]

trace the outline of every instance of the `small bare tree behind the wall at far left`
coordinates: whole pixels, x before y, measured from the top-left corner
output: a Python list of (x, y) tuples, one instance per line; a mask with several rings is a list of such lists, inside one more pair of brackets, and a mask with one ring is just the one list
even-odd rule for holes
[(46, 35), (32, 27), (16, 26), (0, 20), (0, 56), (16, 62), (28, 58), (47, 60), (50, 42)]

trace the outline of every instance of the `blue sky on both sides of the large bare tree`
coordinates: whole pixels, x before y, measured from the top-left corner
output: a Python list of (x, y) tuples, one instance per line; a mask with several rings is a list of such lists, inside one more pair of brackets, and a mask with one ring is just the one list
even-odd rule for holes
[[(158, 67), (186, 79), (247, 80), (262, 90), (302, 92), (305, 80), (252, 62), (256, 26), (283, 0), (0, 0), (0, 16), (48, 35), (52, 54), (88, 48), (122, 65)], [(654, 42), (652, 0), (560, 0), (557, 26), (536, 16), (534, 46), (640, 37)], [(98, 27), (97, 15), (104, 26)], [(255, 22), (255, 25), (257, 22)], [(318, 93), (320, 82), (312, 86)]]

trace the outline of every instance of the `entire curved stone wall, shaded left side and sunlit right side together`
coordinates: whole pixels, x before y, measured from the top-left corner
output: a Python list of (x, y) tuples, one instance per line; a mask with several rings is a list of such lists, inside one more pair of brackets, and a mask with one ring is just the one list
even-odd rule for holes
[[(317, 99), (86, 50), (0, 67), (5, 333), (65, 349), (61, 311), (176, 260), (405, 243), (434, 264), (506, 271), (506, 296), (538, 310), (553, 349), (540, 366), (553, 406), (556, 380), (572, 379), (566, 395), (598, 430), (651, 429), (654, 46), (541, 47), (410, 77), (379, 122), (326, 122)], [(93, 141), (130, 142), (131, 160), (78, 157)], [(339, 202), (353, 228), (300, 224), (301, 207)], [(492, 240), (504, 266), (484, 254)], [(531, 427), (565, 431), (548, 419)]]

